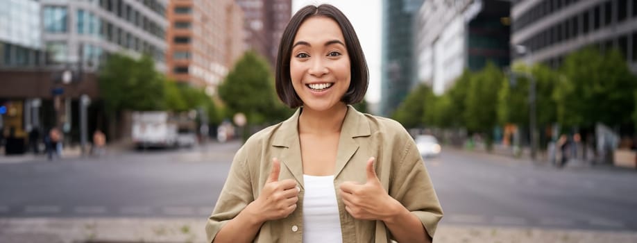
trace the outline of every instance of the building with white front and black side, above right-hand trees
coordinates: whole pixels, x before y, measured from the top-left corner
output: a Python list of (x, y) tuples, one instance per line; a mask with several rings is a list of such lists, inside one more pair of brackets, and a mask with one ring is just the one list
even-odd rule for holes
[(416, 17), (418, 81), (436, 94), (465, 69), (509, 65), (509, 1), (425, 1)]

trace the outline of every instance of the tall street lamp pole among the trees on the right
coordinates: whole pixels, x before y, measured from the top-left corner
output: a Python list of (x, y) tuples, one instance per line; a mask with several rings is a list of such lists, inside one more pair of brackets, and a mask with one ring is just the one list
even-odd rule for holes
[[(516, 49), (516, 53), (525, 56), (527, 68), (531, 67), (531, 50), (527, 47), (516, 44), (513, 46)], [(517, 74), (511, 70), (511, 76), (515, 77)], [(529, 71), (527, 73), (522, 74), (523, 76), (529, 78), (529, 137), (531, 138), (531, 159), (536, 159), (536, 151), (537, 151), (537, 136), (535, 133), (536, 127), (536, 81), (533, 74)]]

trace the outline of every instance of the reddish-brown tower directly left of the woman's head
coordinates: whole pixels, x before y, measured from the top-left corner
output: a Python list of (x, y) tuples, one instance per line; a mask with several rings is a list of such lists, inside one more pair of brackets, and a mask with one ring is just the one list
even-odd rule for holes
[(244, 10), (247, 49), (276, 62), (281, 35), (291, 18), (291, 0), (236, 0)]

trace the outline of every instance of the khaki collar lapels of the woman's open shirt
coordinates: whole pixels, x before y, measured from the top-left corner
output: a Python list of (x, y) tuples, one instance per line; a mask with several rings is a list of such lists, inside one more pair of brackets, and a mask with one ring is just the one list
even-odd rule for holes
[[(353, 106), (348, 105), (348, 110), (341, 126), (341, 137), (339, 138), (339, 149), (334, 171), (334, 178), (339, 176), (343, 167), (352, 158), (359, 148), (355, 137), (371, 135), (369, 124), (365, 116), (358, 112)], [(296, 181), (303, 186), (303, 161), (301, 161), (300, 141), (298, 136), (298, 117), (302, 108), (298, 108), (294, 115), (282, 122), (280, 128), (273, 137), (272, 146), (284, 147), (280, 154), (280, 162), (284, 164), (294, 175)]]

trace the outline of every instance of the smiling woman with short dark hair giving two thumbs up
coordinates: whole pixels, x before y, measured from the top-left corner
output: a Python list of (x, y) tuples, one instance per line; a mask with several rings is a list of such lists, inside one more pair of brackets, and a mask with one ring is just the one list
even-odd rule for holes
[(414, 140), (351, 106), (368, 68), (345, 15), (298, 10), (276, 63), (278, 97), (298, 109), (237, 151), (208, 242), (431, 242), (443, 212)]

